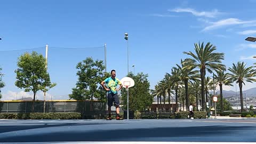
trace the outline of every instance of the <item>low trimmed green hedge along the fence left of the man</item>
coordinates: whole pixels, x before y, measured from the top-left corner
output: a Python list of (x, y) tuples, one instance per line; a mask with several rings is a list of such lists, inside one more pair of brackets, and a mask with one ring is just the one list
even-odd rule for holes
[(81, 113), (0, 114), (0, 119), (79, 119)]

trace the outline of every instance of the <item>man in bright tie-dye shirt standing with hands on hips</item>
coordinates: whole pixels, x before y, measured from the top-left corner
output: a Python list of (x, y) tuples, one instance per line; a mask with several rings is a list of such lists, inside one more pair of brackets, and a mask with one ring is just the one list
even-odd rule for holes
[[(108, 89), (104, 84), (107, 84), (110, 89)], [(116, 119), (121, 120), (122, 118), (119, 115), (120, 109), (119, 109), (119, 98), (117, 95), (117, 92), (122, 89), (123, 85), (119, 81), (118, 78), (116, 78), (116, 71), (113, 69), (111, 70), (111, 77), (105, 79), (100, 83), (106, 91), (108, 91), (108, 118), (107, 120), (111, 120), (111, 106), (113, 106), (113, 102), (116, 106)], [(119, 88), (117, 89), (117, 85), (119, 85)]]

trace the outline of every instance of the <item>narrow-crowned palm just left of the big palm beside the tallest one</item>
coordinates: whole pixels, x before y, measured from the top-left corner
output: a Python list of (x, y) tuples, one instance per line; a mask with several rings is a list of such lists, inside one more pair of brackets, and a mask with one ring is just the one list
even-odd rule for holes
[(178, 89), (181, 84), (180, 70), (179, 68), (173, 67), (171, 74), (166, 73), (166, 75), (171, 77), (170, 81), (173, 83), (173, 90), (175, 90), (175, 104), (176, 104), (175, 111), (177, 111), (178, 110)]

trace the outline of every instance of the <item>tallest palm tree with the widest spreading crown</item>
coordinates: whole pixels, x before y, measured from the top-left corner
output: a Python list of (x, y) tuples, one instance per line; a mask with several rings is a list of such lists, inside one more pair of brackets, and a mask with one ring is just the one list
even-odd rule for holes
[(225, 65), (221, 63), (221, 60), (224, 59), (224, 53), (215, 53), (216, 47), (211, 43), (207, 43), (204, 46), (204, 43), (197, 44), (195, 43), (195, 52), (183, 52), (190, 55), (193, 59), (186, 59), (185, 62), (193, 63), (197, 68), (200, 69), (201, 75), (201, 97), (202, 97), (202, 109), (205, 110), (205, 99), (204, 99), (204, 78), (206, 71), (212, 73), (212, 70), (221, 70), (225, 69)]

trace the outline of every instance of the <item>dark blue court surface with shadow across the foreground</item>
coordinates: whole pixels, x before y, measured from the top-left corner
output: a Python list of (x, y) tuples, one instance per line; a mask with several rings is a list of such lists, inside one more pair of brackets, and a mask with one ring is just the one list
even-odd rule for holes
[(0, 142), (256, 142), (255, 118), (0, 119)]

